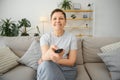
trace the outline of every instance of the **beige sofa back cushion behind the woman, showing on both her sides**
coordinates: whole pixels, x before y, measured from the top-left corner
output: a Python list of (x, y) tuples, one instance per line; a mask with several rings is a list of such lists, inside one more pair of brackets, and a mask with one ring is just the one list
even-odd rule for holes
[[(19, 36), (19, 37), (4, 37), (0, 36), (0, 44), (5, 44), (8, 46), (18, 57), (24, 55), (24, 53), (30, 47), (32, 41), (35, 37), (30, 36)], [(77, 51), (77, 64), (83, 64), (82, 48), (81, 48), (82, 39), (77, 38), (78, 51)]]

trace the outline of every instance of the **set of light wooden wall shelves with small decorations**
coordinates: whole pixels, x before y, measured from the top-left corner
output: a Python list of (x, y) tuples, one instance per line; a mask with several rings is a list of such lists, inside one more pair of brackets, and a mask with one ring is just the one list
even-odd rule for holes
[(77, 37), (93, 36), (93, 10), (64, 10), (64, 12), (67, 15), (66, 30), (73, 32)]

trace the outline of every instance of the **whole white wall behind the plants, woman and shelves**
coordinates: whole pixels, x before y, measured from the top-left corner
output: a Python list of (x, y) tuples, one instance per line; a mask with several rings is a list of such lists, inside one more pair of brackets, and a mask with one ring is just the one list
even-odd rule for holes
[[(0, 19), (11, 18), (20, 20), (27, 18), (32, 27), (29, 33), (35, 33), (35, 26), (42, 32), (41, 16), (49, 17), (50, 12), (57, 8), (61, 0), (0, 0)], [(95, 36), (120, 37), (120, 0), (72, 0), (86, 8), (88, 2), (95, 5)], [(45, 24), (45, 32), (50, 30), (49, 22)]]

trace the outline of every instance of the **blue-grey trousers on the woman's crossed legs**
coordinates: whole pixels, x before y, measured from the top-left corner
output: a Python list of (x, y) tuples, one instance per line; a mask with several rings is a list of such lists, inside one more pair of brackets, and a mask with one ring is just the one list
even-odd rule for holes
[(76, 67), (58, 65), (52, 61), (44, 61), (38, 66), (37, 80), (75, 80)]

